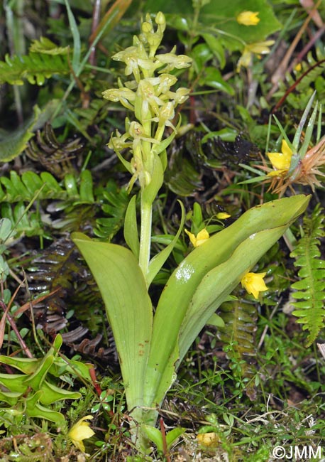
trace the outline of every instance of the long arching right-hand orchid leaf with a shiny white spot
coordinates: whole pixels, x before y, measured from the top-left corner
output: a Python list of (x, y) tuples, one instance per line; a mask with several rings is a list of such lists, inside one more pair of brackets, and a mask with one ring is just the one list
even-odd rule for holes
[[(248, 210), (231, 226), (194, 249), (175, 269), (160, 296), (155, 312), (145, 380), (145, 405), (160, 403), (172, 383), (172, 371), (178, 359), (180, 328), (194, 292), (204, 276), (211, 269), (230, 259), (237, 247), (245, 240), (253, 239), (256, 233), (276, 227), (284, 227), (284, 232), (285, 228), (305, 210), (308, 202), (309, 197), (297, 195), (274, 200)], [(268, 247), (261, 249), (260, 257), (267, 249)], [(246, 267), (249, 265), (250, 260), (246, 262)], [(237, 275), (233, 279), (236, 283), (229, 279), (224, 281), (228, 286), (224, 296), (227, 296), (238, 283)]]

